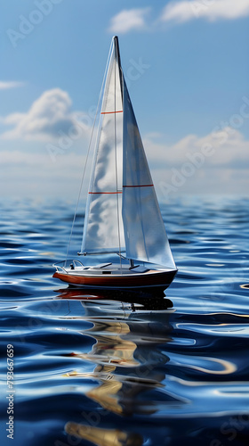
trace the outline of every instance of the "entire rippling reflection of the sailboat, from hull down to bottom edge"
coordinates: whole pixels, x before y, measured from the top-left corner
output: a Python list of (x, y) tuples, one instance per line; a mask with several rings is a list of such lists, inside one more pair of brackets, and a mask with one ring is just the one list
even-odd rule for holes
[[(107, 429), (106, 415), (150, 415), (157, 412), (160, 400), (165, 403), (168, 399), (171, 405), (182, 403), (173, 395), (167, 395), (163, 366), (169, 358), (157, 349), (158, 345), (171, 340), (169, 319), (174, 311), (173, 303), (165, 299), (164, 294), (151, 299), (133, 298), (133, 301), (131, 294), (125, 293), (122, 301), (111, 301), (109, 294), (109, 300), (100, 301), (98, 295), (70, 287), (61, 290), (59, 297), (80, 300), (84, 319), (92, 322), (84, 335), (95, 341), (91, 351), (71, 353), (71, 356), (91, 361), (95, 365), (93, 371), (72, 371), (67, 376), (96, 380), (98, 384), (93, 384), (85, 395), (105, 409), (104, 428), (100, 426), (101, 421), (98, 425), (84, 425), (70, 420), (66, 432), (100, 446), (142, 444), (141, 434), (114, 429), (111, 423), (112, 428)], [(158, 391), (163, 391), (163, 397)]]

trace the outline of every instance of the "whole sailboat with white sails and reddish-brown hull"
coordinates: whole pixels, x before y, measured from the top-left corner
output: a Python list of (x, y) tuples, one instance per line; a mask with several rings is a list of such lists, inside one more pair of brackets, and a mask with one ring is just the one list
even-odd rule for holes
[[(100, 121), (78, 252), (93, 260), (87, 265), (80, 260), (56, 263), (53, 277), (90, 289), (165, 290), (177, 268), (126, 87), (116, 36), (100, 95)], [(106, 260), (114, 255), (117, 261)], [(105, 261), (100, 263), (101, 256)]]

